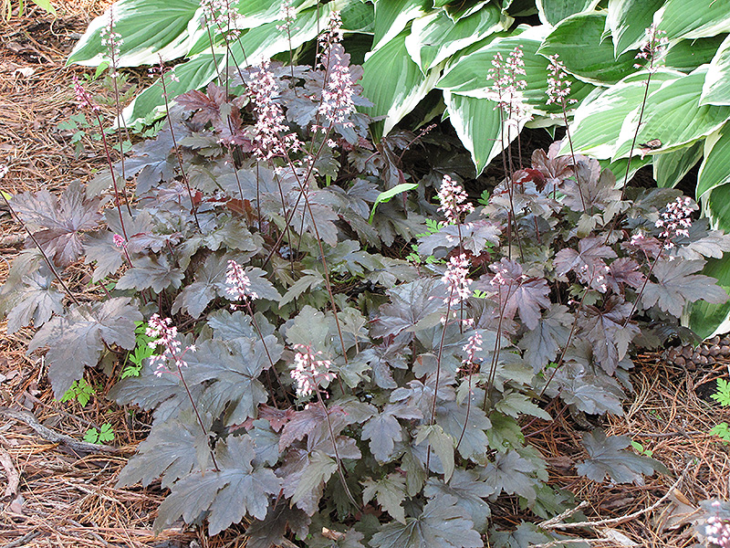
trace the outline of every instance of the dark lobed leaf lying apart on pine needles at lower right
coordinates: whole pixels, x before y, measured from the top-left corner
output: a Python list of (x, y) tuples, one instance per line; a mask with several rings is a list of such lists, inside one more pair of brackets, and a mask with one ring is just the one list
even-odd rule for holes
[(637, 455), (626, 436), (607, 437), (600, 428), (583, 434), (583, 447), (589, 458), (576, 467), (580, 476), (599, 483), (608, 476), (613, 483), (633, 482), (643, 485), (642, 474), (652, 475), (664, 467), (653, 458)]

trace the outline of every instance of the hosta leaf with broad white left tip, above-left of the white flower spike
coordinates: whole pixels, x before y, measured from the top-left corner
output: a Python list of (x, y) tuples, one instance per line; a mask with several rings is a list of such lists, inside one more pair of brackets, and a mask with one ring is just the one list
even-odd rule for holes
[(494, 4), (485, 5), (456, 23), (442, 10), (414, 20), (405, 47), (425, 74), (460, 49), (504, 30), (510, 21), (511, 18), (503, 20), (501, 10)]

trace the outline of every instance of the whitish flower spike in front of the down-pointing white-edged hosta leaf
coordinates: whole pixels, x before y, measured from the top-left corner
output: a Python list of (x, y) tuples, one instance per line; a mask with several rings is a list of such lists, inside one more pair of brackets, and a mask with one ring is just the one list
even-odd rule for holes
[(506, 122), (519, 124), (520, 121), (530, 120), (527, 105), (522, 96), (522, 90), (527, 88), (527, 81), (519, 79), (526, 76), (525, 61), (521, 47), (515, 47), (506, 60), (497, 52), (492, 59), (492, 68), (487, 73), (487, 79), (494, 81), (492, 90), (495, 93), (495, 109), (506, 114)]

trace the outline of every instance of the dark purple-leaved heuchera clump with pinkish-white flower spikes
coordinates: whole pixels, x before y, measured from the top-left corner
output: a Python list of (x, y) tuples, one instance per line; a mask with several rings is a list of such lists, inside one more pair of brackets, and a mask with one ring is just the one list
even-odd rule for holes
[[(559, 545), (491, 518), (507, 498), (536, 522), (572, 503), (528, 428), (620, 414), (634, 345), (676, 333), (690, 302), (725, 300), (698, 272), (728, 237), (678, 191), (624, 193), (559, 142), (524, 165), (505, 154), (474, 207), (474, 170), (429, 144), (446, 136), (369, 141), (362, 68), (337, 16), (322, 28), (315, 67), (234, 67), (166, 107), (124, 169), (15, 196), (29, 247), (0, 292), (8, 331), (36, 328), (29, 351), (47, 348), (57, 397), (103, 367), (125, 377), (110, 398), (151, 411), (119, 485), (161, 479), (158, 530), (245, 521), (260, 548)], [(523, 59), (492, 59), (506, 140)], [(164, 96), (175, 74), (160, 76)], [(99, 300), (71, 291), (81, 261)], [(154, 353), (122, 374), (141, 321)], [(641, 483), (661, 468), (586, 424), (580, 476)]]

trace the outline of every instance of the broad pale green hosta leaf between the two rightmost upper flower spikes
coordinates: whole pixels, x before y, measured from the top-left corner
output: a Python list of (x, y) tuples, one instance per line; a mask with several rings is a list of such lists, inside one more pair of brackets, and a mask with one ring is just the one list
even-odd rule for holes
[[(650, 93), (662, 83), (682, 76), (679, 72), (660, 70), (652, 75)], [(646, 90), (646, 73), (631, 75), (600, 94), (583, 101), (570, 124), (570, 136), (576, 153), (599, 159), (613, 156), (624, 119), (641, 105)], [(561, 154), (569, 151), (563, 143)]]

